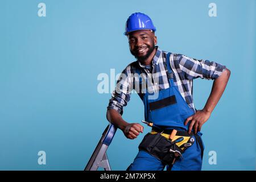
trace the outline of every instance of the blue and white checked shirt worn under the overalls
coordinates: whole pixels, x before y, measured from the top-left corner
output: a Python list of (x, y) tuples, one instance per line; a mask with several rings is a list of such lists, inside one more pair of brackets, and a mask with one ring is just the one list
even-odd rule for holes
[[(170, 87), (167, 77), (167, 65), (166, 65), (166, 51), (161, 51), (159, 47), (156, 47), (156, 53), (151, 63), (151, 69), (148, 66), (142, 65), (138, 60), (127, 65), (123, 70), (125, 78), (119, 77), (117, 86), (112, 93), (112, 98), (109, 100), (108, 110), (115, 109), (122, 114), (123, 107), (127, 105), (130, 100), (131, 90), (134, 89), (134, 81), (137, 73), (136, 70), (141, 70), (144, 76), (150, 78), (150, 84), (147, 87), (148, 92), (158, 92), (162, 89)], [(226, 69), (225, 65), (218, 64), (209, 60), (197, 60), (187, 57), (185, 55), (171, 53), (170, 64), (172, 71), (174, 72), (174, 84), (179, 89), (181, 96), (187, 102), (188, 106), (195, 111), (195, 105), (193, 104), (193, 79), (203, 78), (208, 80), (215, 80)], [(132, 76), (135, 76), (134, 77)], [(143, 78), (145, 79), (145, 78)], [(138, 78), (137, 78), (138, 80)], [(141, 86), (140, 86), (141, 88)], [(137, 93), (140, 95), (141, 90)], [(140, 95), (141, 97), (141, 95)]]

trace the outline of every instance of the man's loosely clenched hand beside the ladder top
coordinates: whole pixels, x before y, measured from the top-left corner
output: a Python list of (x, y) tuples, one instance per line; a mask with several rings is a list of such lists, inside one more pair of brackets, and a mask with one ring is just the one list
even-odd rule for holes
[(123, 130), (123, 134), (125, 134), (126, 138), (134, 139), (137, 138), (139, 133), (143, 133), (144, 127), (139, 123), (130, 123)]

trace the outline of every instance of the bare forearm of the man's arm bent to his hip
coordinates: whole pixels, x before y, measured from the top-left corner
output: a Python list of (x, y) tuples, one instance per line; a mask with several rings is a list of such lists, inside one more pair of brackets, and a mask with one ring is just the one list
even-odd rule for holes
[(218, 101), (222, 96), (222, 93), (226, 88), (226, 84), (228, 84), (229, 76), (230, 76), (229, 69), (225, 69), (225, 71), (221, 74), (221, 76), (218, 77), (216, 80), (214, 80), (212, 91), (210, 92), (210, 96), (203, 109), (204, 111), (212, 113), (214, 107), (217, 105)]

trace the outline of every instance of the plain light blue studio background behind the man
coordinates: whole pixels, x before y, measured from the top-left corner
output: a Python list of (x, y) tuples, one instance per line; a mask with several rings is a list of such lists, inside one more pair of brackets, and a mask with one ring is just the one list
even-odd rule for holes
[[(134, 61), (123, 35), (128, 16), (148, 14), (158, 46), (226, 65), (232, 75), (203, 126), (203, 170), (255, 170), (255, 9), (247, 1), (0, 1), (0, 169), (82, 170), (105, 127), (109, 93), (97, 77)], [(38, 16), (38, 4), (46, 16)], [(217, 16), (208, 7), (216, 3)], [(202, 109), (213, 81), (194, 81)], [(123, 118), (141, 122), (137, 94)], [(143, 125), (143, 124), (142, 124)], [(113, 170), (125, 170), (150, 131), (126, 139), (121, 130), (108, 150)], [(46, 164), (38, 164), (38, 152)], [(217, 164), (209, 164), (216, 151)]]

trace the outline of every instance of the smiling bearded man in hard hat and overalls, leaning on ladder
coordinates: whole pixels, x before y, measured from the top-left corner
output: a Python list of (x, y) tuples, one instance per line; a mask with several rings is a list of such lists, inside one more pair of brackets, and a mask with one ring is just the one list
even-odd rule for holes
[[(107, 118), (126, 138), (135, 139), (143, 133), (142, 125), (126, 122), (121, 116), (135, 89), (152, 131), (142, 140), (138, 155), (127, 170), (163, 170), (166, 166), (171, 170), (201, 170), (204, 146), (200, 130), (220, 100), (230, 71), (213, 61), (160, 50), (155, 46), (155, 31), (145, 14), (134, 13), (127, 19), (125, 35), (137, 61), (119, 77)], [(195, 109), (192, 98), (192, 80), (199, 77), (214, 80), (202, 110)]]

